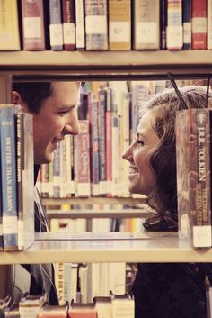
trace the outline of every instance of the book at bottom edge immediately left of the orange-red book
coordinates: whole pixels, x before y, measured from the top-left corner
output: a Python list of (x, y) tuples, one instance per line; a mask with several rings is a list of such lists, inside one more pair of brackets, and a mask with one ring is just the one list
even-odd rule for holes
[(44, 304), (38, 314), (38, 318), (66, 318), (67, 304)]

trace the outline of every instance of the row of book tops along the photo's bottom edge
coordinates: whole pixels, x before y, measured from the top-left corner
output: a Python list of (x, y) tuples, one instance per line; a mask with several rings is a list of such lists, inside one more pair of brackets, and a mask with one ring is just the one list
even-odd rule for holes
[(45, 294), (22, 296), (19, 304), (10, 304), (7, 296), (0, 300), (1, 317), (5, 318), (134, 318), (135, 304), (130, 294), (114, 295), (112, 292), (107, 297), (97, 296), (93, 302), (78, 304), (72, 301), (70, 305), (50, 305), (46, 303)]

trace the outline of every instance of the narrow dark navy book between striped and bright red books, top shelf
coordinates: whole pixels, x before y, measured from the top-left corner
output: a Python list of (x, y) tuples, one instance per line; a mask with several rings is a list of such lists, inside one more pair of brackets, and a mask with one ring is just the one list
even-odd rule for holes
[(182, 2), (183, 50), (191, 50), (191, 0)]

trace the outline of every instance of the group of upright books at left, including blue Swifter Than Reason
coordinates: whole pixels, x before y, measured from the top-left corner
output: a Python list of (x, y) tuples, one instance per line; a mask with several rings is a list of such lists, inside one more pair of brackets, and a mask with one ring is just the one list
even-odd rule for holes
[(34, 241), (32, 116), (0, 104), (0, 250), (23, 250)]

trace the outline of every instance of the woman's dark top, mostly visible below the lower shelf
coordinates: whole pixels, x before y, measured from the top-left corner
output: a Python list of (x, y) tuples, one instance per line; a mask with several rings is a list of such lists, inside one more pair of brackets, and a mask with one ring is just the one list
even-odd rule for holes
[[(148, 231), (176, 231), (177, 220), (170, 217), (164, 214), (144, 226)], [(132, 288), (135, 318), (207, 318), (205, 290), (201, 264), (139, 263)]]

